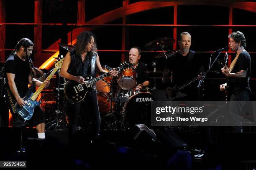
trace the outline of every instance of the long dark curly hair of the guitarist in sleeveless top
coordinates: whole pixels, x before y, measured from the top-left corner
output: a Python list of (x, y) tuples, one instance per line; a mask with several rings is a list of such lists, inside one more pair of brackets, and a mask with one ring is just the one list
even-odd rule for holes
[(75, 46), (77, 55), (81, 55), (82, 53), (86, 52), (86, 47), (88, 45), (88, 42), (90, 42), (91, 37), (94, 38), (94, 44), (93, 44), (92, 50), (90, 52), (88, 52), (87, 54), (92, 56), (94, 51), (97, 52), (95, 35), (90, 31), (84, 31), (84, 32), (81, 32), (77, 37), (77, 44)]

